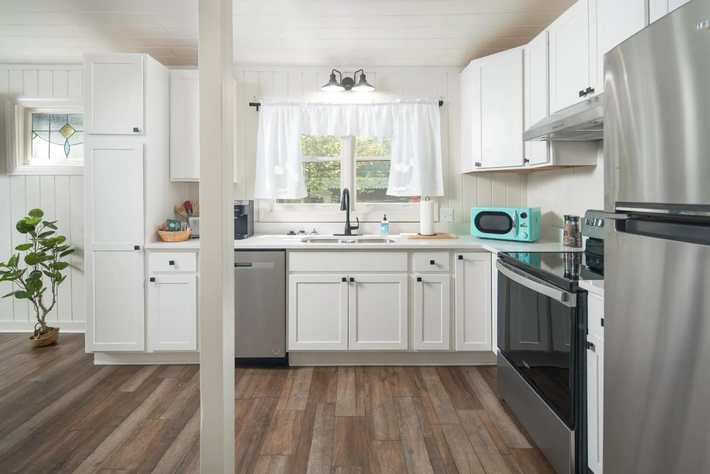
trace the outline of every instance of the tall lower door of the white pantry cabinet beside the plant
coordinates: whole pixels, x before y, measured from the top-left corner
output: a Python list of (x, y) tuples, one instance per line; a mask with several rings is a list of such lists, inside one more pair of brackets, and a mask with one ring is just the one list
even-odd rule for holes
[(87, 350), (143, 350), (143, 148), (89, 140), (84, 150)]

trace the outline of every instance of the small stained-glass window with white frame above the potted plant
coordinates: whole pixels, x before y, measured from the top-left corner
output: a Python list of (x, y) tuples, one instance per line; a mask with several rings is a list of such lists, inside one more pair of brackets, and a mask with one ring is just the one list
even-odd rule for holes
[(82, 174), (84, 111), (58, 99), (7, 99), (9, 174)]

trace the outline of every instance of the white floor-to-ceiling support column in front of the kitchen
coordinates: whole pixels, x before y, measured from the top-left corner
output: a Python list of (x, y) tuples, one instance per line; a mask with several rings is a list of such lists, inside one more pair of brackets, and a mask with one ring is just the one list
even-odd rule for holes
[(200, 472), (234, 474), (232, 0), (199, 0)]

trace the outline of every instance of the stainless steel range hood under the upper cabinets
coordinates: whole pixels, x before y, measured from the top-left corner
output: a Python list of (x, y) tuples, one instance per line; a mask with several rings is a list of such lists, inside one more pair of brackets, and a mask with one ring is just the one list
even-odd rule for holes
[(603, 94), (562, 109), (523, 131), (523, 141), (601, 140), (604, 134)]

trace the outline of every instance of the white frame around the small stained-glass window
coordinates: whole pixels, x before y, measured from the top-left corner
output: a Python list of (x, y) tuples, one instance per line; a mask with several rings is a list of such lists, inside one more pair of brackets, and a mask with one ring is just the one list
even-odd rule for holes
[(67, 159), (64, 162), (50, 161), (47, 164), (43, 164), (31, 163), (33, 158), (30, 156), (32, 153), (32, 114), (36, 112), (48, 114), (84, 114), (84, 104), (82, 101), (75, 99), (25, 99), (21, 97), (9, 97), (4, 101), (4, 108), (4, 131), (7, 138), (5, 153), (7, 174), (84, 174), (83, 160)]

